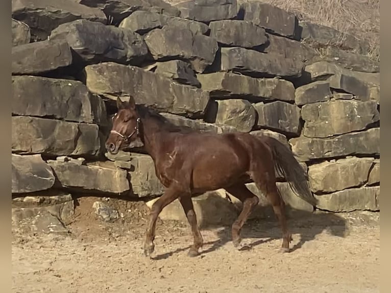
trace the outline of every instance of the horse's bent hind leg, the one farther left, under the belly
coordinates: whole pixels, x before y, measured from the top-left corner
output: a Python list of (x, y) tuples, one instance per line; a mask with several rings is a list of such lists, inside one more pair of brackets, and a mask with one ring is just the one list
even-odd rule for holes
[(245, 184), (237, 184), (226, 188), (226, 190), (243, 203), (242, 211), (236, 221), (232, 224), (233, 245), (235, 248), (241, 249), (241, 228), (246, 223), (254, 207), (258, 204), (259, 198), (252, 193)]

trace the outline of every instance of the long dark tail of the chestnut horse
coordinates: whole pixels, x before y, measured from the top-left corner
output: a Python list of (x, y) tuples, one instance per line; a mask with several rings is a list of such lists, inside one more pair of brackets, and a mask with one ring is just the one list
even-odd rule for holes
[(272, 149), (277, 170), (280, 174), (284, 175), (292, 191), (299, 198), (315, 206), (317, 201), (312, 196), (307, 174), (291, 150), (273, 137), (265, 137), (264, 141)]

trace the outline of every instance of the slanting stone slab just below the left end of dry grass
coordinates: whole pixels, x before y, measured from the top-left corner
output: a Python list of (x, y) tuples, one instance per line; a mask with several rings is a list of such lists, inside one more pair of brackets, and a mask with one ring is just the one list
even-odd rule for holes
[(277, 54), (284, 58), (297, 59), (304, 62), (304, 64), (320, 60), (319, 53), (305, 43), (273, 34), (266, 34), (266, 37), (266, 43), (257, 47), (257, 51)]

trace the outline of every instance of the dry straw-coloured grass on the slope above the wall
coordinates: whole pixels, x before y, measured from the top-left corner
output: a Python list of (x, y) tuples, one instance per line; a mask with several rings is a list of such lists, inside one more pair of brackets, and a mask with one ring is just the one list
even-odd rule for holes
[[(164, 0), (173, 5), (184, 0)], [(237, 0), (238, 3), (257, 0)], [(380, 61), (380, 0), (262, 0), (297, 15), (299, 20), (349, 33), (370, 44), (369, 57)]]

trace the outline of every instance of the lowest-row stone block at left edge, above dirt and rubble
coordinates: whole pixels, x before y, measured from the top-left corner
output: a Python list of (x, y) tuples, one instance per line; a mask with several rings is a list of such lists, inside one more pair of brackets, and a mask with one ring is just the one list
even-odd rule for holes
[(40, 155), (11, 155), (11, 191), (27, 193), (49, 189), (55, 177)]

